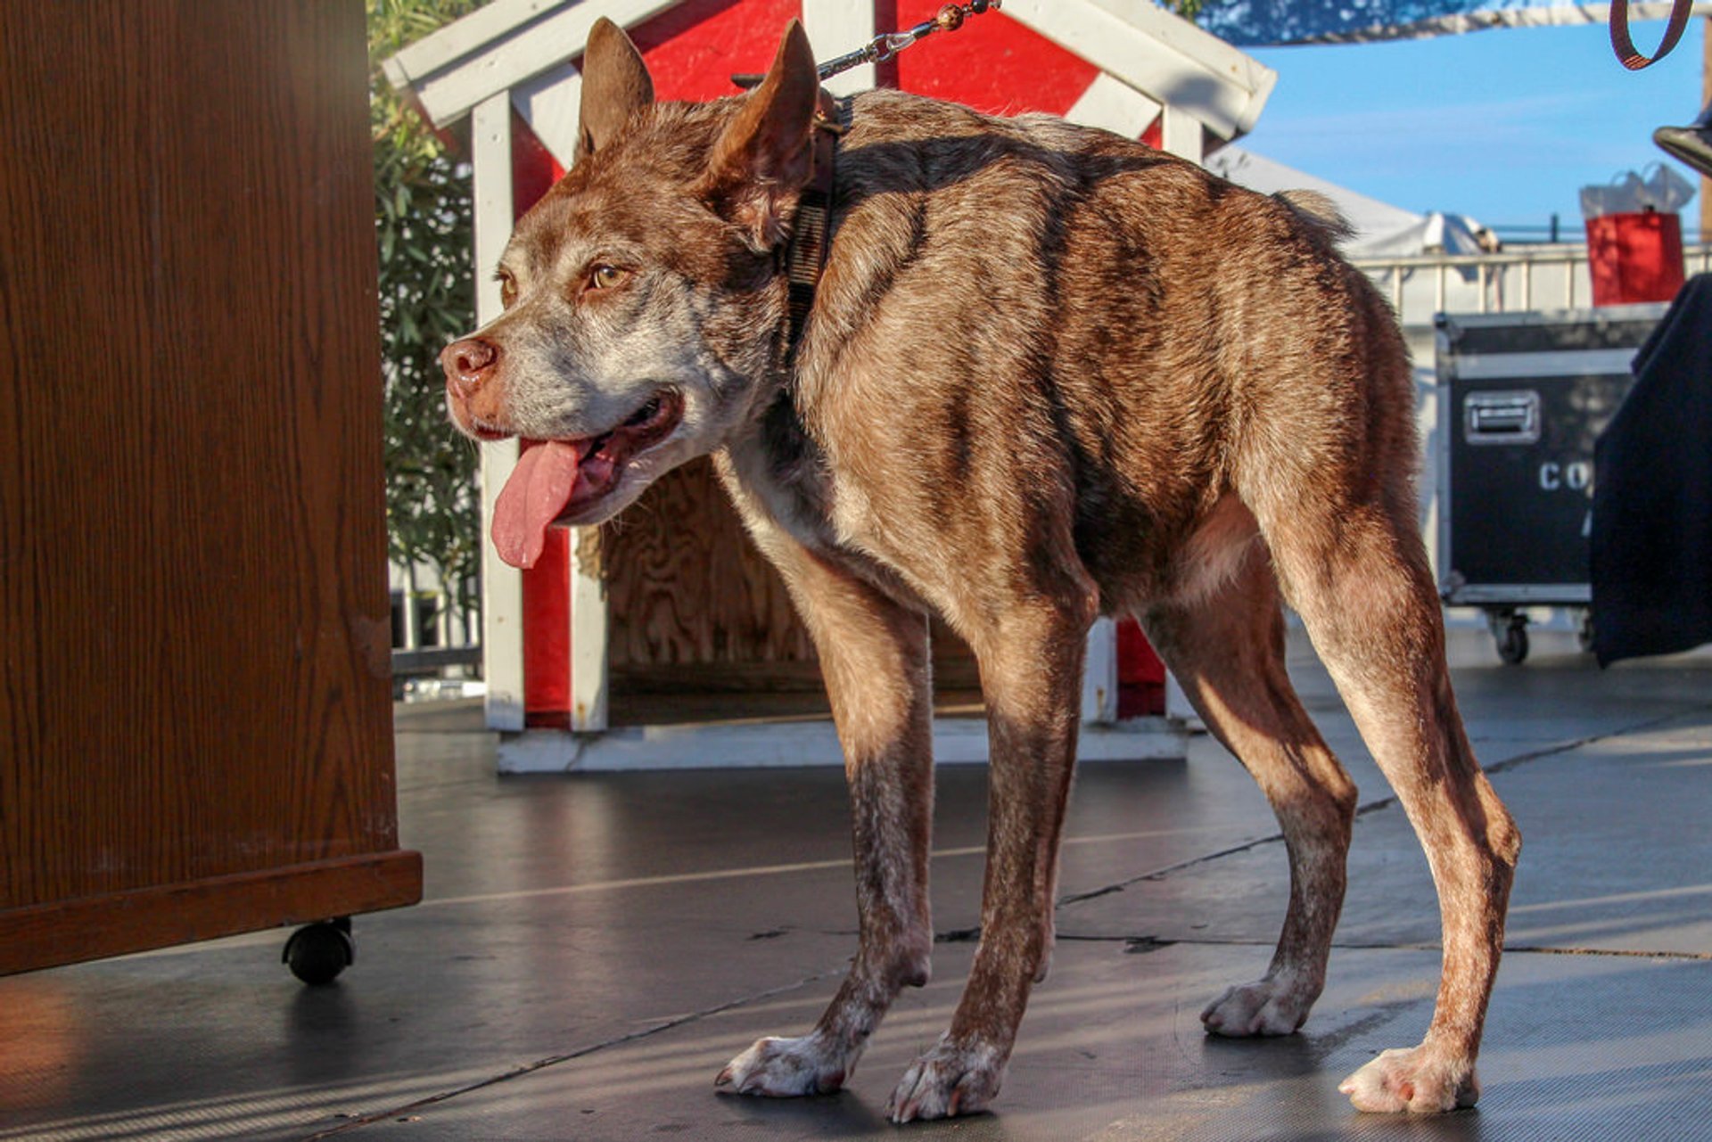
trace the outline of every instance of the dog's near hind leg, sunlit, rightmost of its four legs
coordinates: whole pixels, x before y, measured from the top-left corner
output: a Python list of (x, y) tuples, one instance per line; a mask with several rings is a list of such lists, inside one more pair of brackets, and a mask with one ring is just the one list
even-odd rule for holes
[(1457, 712), (1414, 497), (1371, 485), (1364, 497), (1310, 493), (1262, 529), (1287, 601), (1426, 849), (1443, 923), (1426, 1038), (1385, 1051), (1339, 1089), (1371, 1111), (1472, 1106), (1522, 842)]

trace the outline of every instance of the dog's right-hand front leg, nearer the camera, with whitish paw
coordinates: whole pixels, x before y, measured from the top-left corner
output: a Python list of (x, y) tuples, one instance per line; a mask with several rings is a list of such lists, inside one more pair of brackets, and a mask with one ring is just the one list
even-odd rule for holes
[(1046, 972), (1091, 622), (1092, 608), (1080, 601), (1034, 603), (974, 640), (991, 758), (981, 945), (950, 1031), (892, 1094), (894, 1121), (991, 1103), (1029, 990)]

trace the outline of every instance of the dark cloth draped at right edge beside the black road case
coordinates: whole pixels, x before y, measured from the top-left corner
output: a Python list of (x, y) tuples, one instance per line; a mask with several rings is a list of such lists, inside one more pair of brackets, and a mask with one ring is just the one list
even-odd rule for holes
[(1691, 277), (1635, 354), (1594, 447), (1594, 654), (1712, 642), (1712, 274)]

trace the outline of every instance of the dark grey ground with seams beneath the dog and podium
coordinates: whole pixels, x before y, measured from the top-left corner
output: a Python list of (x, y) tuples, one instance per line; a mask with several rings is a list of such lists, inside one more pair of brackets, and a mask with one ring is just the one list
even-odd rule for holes
[[(1198, 736), (1186, 762), (1082, 769), (1060, 945), (991, 1113), (918, 1139), (1712, 1139), (1712, 659), (1597, 671), (1536, 633), (1524, 668), (1453, 639), (1471, 736), (1527, 841), (1479, 1108), (1363, 1116), (1337, 1082), (1416, 1043), (1436, 909), (1407, 822), (1311, 652), (1303, 695), (1364, 812), (1325, 996), (1299, 1034), (1202, 1034), (1263, 971), (1282, 844)], [(714, 1092), (801, 1032), (854, 947), (835, 770), (493, 776), (469, 709), (399, 716), (402, 839), (426, 901), (360, 916), (325, 988), (281, 933), (0, 979), (0, 1139), (859, 1139), (948, 1020), (978, 918), (984, 770), (938, 777), (935, 981), (849, 1087)], [(1104, 890), (1104, 892), (1101, 892)]]

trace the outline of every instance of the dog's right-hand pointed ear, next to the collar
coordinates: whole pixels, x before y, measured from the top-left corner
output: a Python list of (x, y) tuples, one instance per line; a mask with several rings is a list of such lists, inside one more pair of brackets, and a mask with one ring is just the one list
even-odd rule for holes
[(820, 94), (815, 53), (791, 21), (767, 79), (745, 96), (714, 142), (698, 190), (736, 223), (755, 250), (784, 241), (796, 199), (813, 171), (813, 123)]

